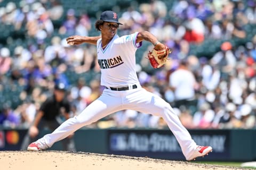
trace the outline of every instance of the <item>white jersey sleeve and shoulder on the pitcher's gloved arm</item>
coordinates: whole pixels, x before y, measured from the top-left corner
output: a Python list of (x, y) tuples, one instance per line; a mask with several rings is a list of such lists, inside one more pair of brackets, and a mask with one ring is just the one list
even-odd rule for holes
[(138, 33), (139, 32), (135, 32), (130, 35), (119, 37), (115, 40), (114, 43), (119, 44), (119, 45), (125, 44), (126, 46), (129, 46), (136, 50), (137, 48), (141, 47), (141, 45), (142, 45), (142, 42), (136, 43)]

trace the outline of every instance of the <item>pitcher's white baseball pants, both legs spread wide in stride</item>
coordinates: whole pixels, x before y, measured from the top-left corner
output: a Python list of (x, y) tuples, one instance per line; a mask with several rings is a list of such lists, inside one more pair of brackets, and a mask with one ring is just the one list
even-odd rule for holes
[(45, 147), (43, 149), (50, 148), (55, 142), (68, 137), (68, 135), (83, 126), (124, 109), (163, 117), (178, 140), (183, 155), (187, 158), (194, 150), (196, 146), (195, 141), (191, 139), (191, 135), (181, 124), (170, 104), (143, 88), (126, 91), (103, 90), (102, 95), (87, 106), (81, 114), (69, 118), (69, 120), (63, 122), (55, 131), (39, 139), (38, 142)]

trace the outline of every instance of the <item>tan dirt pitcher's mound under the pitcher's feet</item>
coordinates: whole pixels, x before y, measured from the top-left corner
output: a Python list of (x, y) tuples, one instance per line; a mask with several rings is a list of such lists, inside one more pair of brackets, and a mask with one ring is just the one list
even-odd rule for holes
[[(65, 151), (0, 151), (0, 169), (2, 170), (158, 170), (158, 169), (239, 169), (224, 166), (178, 162), (171, 160), (137, 158), (115, 155), (71, 153)], [(243, 168), (241, 168), (243, 169)]]

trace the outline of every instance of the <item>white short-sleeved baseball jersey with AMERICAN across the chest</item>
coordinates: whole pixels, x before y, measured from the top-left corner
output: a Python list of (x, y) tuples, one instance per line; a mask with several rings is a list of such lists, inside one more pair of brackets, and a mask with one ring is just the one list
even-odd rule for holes
[(101, 39), (97, 41), (102, 86), (139, 84), (135, 71), (135, 52), (142, 43), (136, 44), (137, 35), (138, 32), (122, 37), (115, 35), (105, 49), (102, 49)]

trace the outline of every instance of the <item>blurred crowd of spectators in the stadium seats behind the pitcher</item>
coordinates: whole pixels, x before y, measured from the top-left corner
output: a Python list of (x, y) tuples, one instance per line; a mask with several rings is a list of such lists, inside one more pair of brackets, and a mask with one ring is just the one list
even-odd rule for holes
[[(256, 2), (253, 0), (0, 0), (0, 124), (28, 128), (55, 83), (67, 86), (72, 113), (99, 97), (94, 46), (69, 46), (71, 35), (98, 36), (94, 23), (116, 11), (118, 35), (148, 30), (173, 52), (161, 69), (137, 50), (143, 86), (163, 97), (188, 129), (254, 128)], [(162, 118), (121, 111), (92, 128), (166, 128)]]

